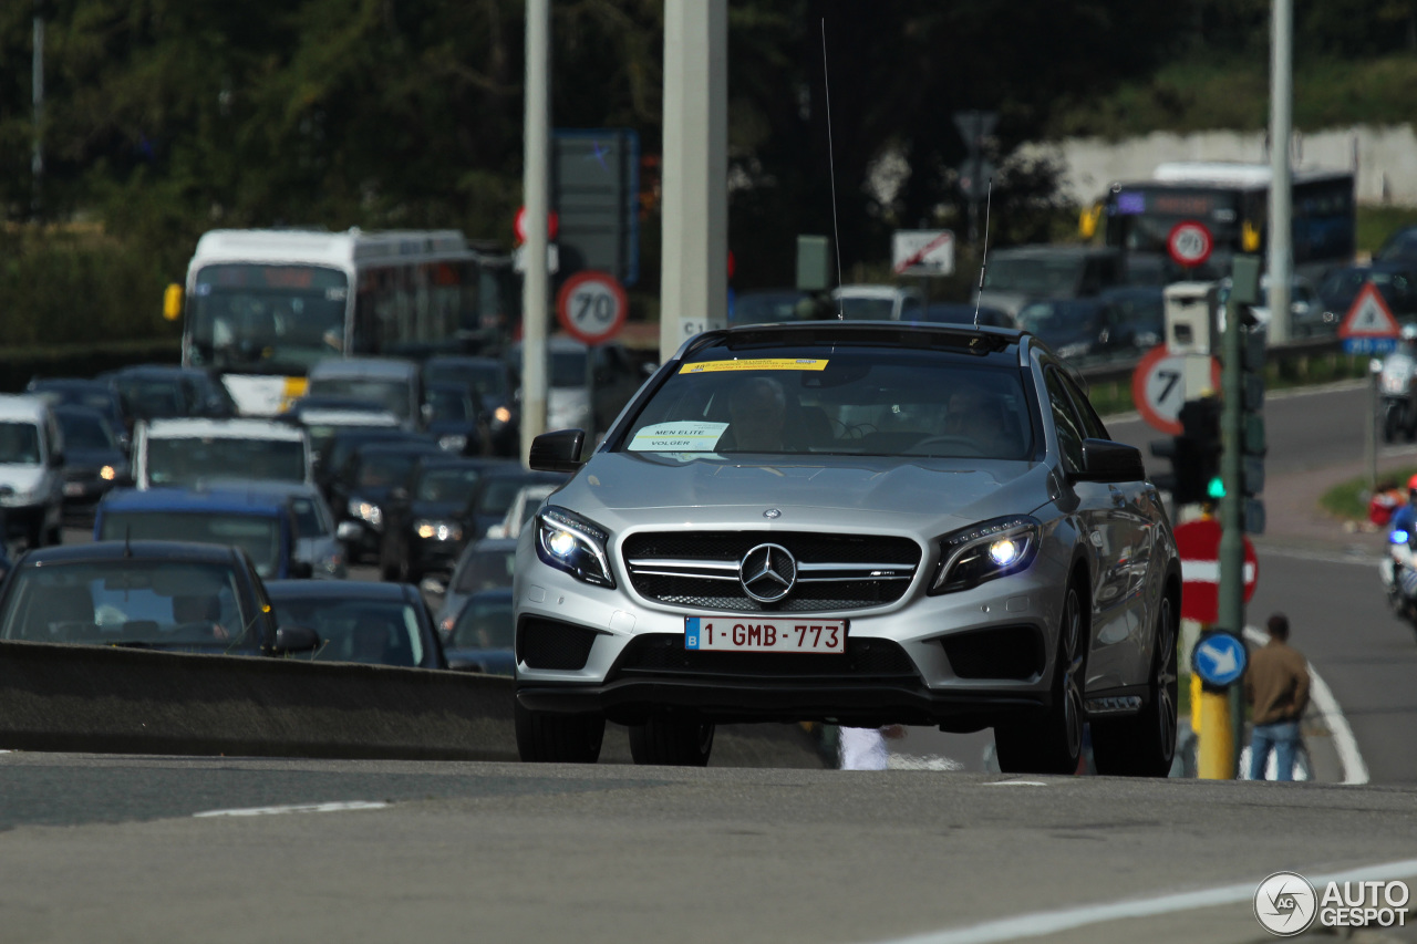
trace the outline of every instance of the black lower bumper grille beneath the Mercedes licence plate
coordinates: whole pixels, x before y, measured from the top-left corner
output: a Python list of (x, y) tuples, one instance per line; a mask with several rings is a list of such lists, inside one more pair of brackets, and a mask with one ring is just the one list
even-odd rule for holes
[(677, 632), (652, 632), (625, 646), (608, 680), (635, 676), (774, 679), (785, 683), (918, 680), (915, 665), (890, 639), (850, 639), (840, 655), (786, 652), (690, 652)]

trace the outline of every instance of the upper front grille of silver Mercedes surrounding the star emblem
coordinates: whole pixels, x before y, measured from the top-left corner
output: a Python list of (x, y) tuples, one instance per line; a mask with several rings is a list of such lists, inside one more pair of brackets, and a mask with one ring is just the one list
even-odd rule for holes
[[(760, 544), (777, 544), (795, 561), (792, 590), (774, 602), (750, 597), (740, 580), (744, 556)], [(728, 612), (840, 612), (894, 602), (921, 558), (908, 537), (811, 532), (632, 534), (621, 553), (642, 597)]]

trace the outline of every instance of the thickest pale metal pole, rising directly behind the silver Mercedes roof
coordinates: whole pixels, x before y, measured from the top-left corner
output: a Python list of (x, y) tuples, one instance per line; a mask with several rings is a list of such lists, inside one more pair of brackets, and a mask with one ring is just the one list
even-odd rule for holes
[(728, 0), (665, 0), (659, 357), (728, 323)]

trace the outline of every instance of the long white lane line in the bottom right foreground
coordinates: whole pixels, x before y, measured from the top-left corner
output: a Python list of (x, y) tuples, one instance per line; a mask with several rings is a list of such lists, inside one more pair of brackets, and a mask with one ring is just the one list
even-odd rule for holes
[[(1367, 882), (1406, 879), (1417, 875), (1417, 859), (1403, 859), (1400, 862), (1382, 862), (1357, 866), (1346, 872), (1331, 875), (1305, 875), (1315, 887), (1326, 886), (1329, 882)], [(1020, 937), (1043, 937), (1044, 934), (1058, 934), (1073, 928), (1101, 924), (1102, 921), (1117, 921), (1121, 918), (1156, 917), (1158, 914), (1173, 914), (1176, 911), (1190, 911), (1193, 909), (1213, 909), (1223, 904), (1238, 904), (1253, 901), (1254, 890), (1260, 886), (1260, 879), (1243, 882), (1240, 884), (1223, 884), (1199, 892), (1182, 892), (1179, 894), (1162, 894), (1152, 899), (1134, 899), (1129, 901), (1111, 901), (1107, 904), (1084, 904), (1076, 909), (1060, 909), (1057, 911), (1034, 911), (1020, 914), (999, 921), (985, 921), (972, 927), (962, 927), (951, 931), (932, 931), (915, 934), (913, 937), (897, 937), (881, 944), (989, 944), (990, 941), (1012, 941)]]

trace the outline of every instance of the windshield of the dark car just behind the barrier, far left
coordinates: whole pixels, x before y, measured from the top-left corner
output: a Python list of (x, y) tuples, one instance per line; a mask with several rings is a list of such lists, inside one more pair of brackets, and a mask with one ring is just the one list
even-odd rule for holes
[[(13, 580), (4, 639), (255, 649), (237, 574), (220, 564), (112, 560), (24, 567)], [(248, 631), (249, 629), (249, 631)]]

